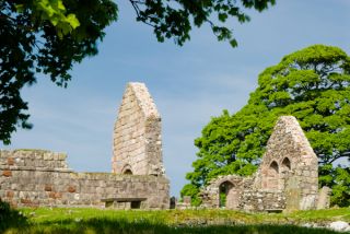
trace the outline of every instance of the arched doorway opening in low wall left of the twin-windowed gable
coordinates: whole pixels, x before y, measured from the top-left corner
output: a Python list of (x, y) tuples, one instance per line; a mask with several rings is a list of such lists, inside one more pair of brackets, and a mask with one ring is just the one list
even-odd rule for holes
[(231, 182), (223, 182), (219, 186), (219, 207), (226, 209), (237, 209), (240, 192)]

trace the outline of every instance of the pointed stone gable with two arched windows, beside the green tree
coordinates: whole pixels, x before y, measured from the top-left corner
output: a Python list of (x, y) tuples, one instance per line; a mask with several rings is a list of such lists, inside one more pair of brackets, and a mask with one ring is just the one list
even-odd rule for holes
[(318, 160), (295, 117), (278, 119), (255, 185), (261, 190), (283, 191), (287, 210), (315, 208)]

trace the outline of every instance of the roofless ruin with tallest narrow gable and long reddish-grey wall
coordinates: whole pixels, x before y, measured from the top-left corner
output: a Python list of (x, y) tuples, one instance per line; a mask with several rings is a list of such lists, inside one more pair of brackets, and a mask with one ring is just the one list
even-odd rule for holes
[(161, 117), (148, 89), (129, 83), (114, 129), (113, 173), (75, 173), (67, 155), (0, 151), (0, 199), (14, 207), (167, 209)]

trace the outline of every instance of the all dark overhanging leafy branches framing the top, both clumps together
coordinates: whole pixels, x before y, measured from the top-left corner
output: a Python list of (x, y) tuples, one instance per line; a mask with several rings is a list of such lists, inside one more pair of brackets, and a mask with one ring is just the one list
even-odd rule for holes
[[(192, 26), (208, 23), (219, 40), (237, 42), (225, 25), (229, 19), (249, 21), (246, 9), (264, 11), (275, 0), (129, 0), (136, 20), (153, 27), (159, 42), (173, 38), (183, 45)], [(104, 28), (117, 20), (112, 0), (3, 0), (0, 1), (0, 140), (31, 128), (27, 102), (21, 89), (44, 73), (67, 86), (73, 63), (97, 54)]]

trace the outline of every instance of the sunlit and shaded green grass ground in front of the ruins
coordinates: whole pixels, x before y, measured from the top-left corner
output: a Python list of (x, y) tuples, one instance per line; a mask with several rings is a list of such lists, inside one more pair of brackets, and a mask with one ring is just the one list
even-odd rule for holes
[[(1, 214), (0, 214), (1, 218)], [(116, 211), (98, 209), (21, 209), (0, 219), (0, 233), (335, 233), (303, 224), (350, 222), (350, 208), (290, 214), (229, 210)]]

